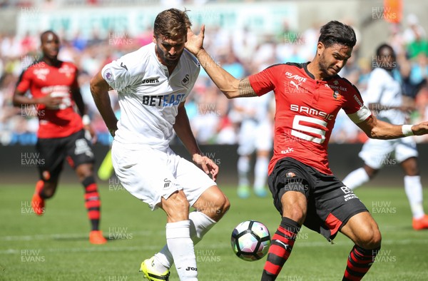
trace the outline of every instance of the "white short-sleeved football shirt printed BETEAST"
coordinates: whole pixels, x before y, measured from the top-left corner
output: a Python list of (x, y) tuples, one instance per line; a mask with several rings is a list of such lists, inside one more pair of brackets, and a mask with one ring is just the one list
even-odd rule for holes
[(173, 73), (156, 56), (151, 43), (108, 63), (104, 80), (118, 92), (121, 118), (115, 141), (128, 148), (150, 145), (165, 150), (173, 138), (178, 105), (185, 101), (200, 71), (198, 60), (183, 51)]

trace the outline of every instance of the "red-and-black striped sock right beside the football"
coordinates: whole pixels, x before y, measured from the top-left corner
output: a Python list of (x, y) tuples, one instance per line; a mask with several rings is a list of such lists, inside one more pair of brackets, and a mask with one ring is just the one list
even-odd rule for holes
[(262, 281), (275, 280), (280, 274), (282, 266), (290, 257), (300, 225), (294, 220), (283, 217), (279, 228), (270, 242), (267, 260), (263, 268)]

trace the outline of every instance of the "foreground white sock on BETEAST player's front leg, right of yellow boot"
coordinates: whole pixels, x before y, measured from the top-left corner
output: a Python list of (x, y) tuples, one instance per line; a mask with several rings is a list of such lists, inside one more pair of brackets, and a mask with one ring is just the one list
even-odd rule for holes
[(195, 249), (190, 239), (190, 220), (166, 224), (166, 245), (173, 255), (180, 280), (198, 280)]

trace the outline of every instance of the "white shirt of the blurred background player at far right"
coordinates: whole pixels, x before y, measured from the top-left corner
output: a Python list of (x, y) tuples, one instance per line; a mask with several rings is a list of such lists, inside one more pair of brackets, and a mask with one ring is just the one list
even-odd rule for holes
[[(394, 79), (389, 71), (383, 68), (374, 68), (370, 73), (367, 82), (364, 101), (370, 103), (380, 103), (382, 106), (401, 106), (402, 105), (402, 86)], [(406, 116), (397, 109), (387, 109), (379, 111), (374, 109), (377, 118), (392, 124), (404, 124)]]

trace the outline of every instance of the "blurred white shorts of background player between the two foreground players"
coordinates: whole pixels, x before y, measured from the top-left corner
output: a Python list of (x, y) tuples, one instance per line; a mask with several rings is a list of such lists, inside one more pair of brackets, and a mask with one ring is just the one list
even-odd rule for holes
[(273, 136), (272, 123), (245, 120), (240, 126), (238, 136), (238, 154), (250, 155), (255, 150), (270, 151)]

